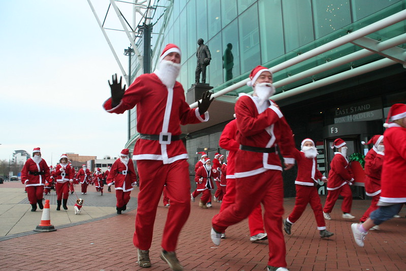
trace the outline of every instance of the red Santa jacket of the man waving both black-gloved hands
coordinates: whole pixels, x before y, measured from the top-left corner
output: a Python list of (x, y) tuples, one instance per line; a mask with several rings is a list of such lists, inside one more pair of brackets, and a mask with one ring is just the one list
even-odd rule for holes
[[(103, 104), (107, 112), (118, 114), (136, 105), (137, 131), (141, 134), (177, 136), (182, 133), (179, 124), (206, 122), (209, 117), (205, 112), (203, 119), (198, 108), (189, 107), (179, 82), (168, 88), (154, 73), (137, 77), (115, 108), (111, 108), (111, 99)], [(139, 139), (134, 146), (134, 160), (162, 160), (169, 164), (187, 158), (182, 140), (160, 144), (158, 140)]]

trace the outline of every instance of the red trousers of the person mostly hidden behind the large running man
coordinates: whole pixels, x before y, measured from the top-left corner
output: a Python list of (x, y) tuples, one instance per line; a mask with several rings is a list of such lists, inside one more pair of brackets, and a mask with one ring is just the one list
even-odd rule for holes
[[(235, 178), (227, 178), (227, 186), (222, 186), (222, 188), (227, 188), (226, 193), (224, 193), (223, 203), (220, 206), (220, 212), (223, 212), (225, 208), (230, 206), (235, 202)], [(261, 204), (258, 204), (253, 212), (248, 216), (248, 228), (249, 236), (257, 235), (258, 233), (264, 233), (264, 220), (262, 219), (262, 208)]]

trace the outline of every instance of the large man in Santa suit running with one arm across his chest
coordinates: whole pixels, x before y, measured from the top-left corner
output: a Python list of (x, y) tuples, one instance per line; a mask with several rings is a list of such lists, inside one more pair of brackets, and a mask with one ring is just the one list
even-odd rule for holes
[[(278, 153), (280, 151), (284, 157), (286, 169), (292, 168), (295, 142), (284, 115), (269, 100), (275, 92), (270, 70), (257, 66), (249, 79), (247, 84), (253, 87), (253, 96), (240, 94), (235, 104), (236, 141), (240, 144), (235, 156), (235, 202), (213, 217), (210, 236), (215, 245), (220, 245), (221, 233), (245, 219), (254, 207), (262, 203), (265, 229), (270, 240), (267, 268), (287, 270), (282, 232), (283, 168)], [(275, 149), (276, 145), (278, 149)]]

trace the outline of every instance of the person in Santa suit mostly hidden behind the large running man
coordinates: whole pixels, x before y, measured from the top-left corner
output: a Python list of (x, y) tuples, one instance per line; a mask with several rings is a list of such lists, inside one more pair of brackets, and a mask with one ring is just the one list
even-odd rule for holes
[[(222, 171), (222, 176), (226, 177), (226, 191), (222, 200), (222, 205), (220, 206), (220, 212), (223, 212), (229, 205), (235, 202), (235, 155), (240, 147), (240, 144), (236, 141), (237, 136), (237, 120), (233, 119), (229, 122), (220, 136), (219, 145), (229, 151), (227, 158), (227, 167), (225, 172)], [(222, 179), (222, 182), (223, 179)], [(222, 185), (222, 184), (220, 184)], [(262, 208), (261, 203), (254, 207), (251, 214), (248, 216), (248, 229), (249, 229), (249, 240), (251, 242), (256, 242), (260, 240), (266, 240), (267, 234), (264, 229), (264, 220), (262, 219)], [(222, 238), (226, 238), (226, 232), (222, 232)]]

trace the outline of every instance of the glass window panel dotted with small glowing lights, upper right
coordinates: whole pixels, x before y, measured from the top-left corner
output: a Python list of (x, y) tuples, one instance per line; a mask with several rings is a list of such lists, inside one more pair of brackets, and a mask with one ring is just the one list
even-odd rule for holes
[(350, 3), (348, 0), (313, 0), (316, 39), (351, 23)]

